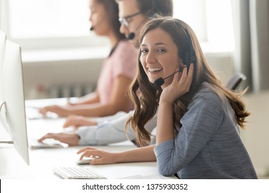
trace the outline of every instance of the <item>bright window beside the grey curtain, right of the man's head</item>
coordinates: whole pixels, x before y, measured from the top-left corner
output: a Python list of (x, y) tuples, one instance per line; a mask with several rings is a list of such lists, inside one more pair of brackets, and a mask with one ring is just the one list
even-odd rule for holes
[(192, 27), (205, 51), (231, 52), (234, 49), (231, 1), (174, 0), (174, 17)]

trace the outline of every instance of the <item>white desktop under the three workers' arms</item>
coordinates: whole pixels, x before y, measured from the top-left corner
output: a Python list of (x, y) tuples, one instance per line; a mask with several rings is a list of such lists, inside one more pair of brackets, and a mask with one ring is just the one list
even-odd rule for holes
[[(28, 120), (28, 137), (39, 138), (47, 132), (60, 132), (64, 119), (37, 119)], [(54, 166), (77, 166), (79, 159), (77, 151), (81, 146), (29, 150), (30, 165), (26, 165), (13, 145), (0, 144), (0, 179), (59, 179), (53, 173)], [(119, 152), (136, 148), (131, 142), (100, 146), (103, 150)], [(156, 162), (146, 163), (119, 163), (112, 165), (81, 165), (90, 167), (108, 179), (121, 179), (131, 176), (153, 176), (156, 179), (165, 178), (157, 171)]]

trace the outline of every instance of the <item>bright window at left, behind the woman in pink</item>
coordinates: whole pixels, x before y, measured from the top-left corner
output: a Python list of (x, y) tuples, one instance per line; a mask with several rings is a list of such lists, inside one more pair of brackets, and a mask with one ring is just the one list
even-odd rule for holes
[(90, 32), (88, 0), (1, 0), (0, 27), (24, 49), (106, 43)]

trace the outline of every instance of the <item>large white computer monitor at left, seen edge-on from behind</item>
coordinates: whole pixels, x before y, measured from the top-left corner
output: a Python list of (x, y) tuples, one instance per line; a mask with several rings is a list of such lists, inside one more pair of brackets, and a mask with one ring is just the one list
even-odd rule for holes
[(14, 148), (29, 165), (21, 47), (8, 40), (0, 82), (3, 93), (1, 123), (8, 131)]

